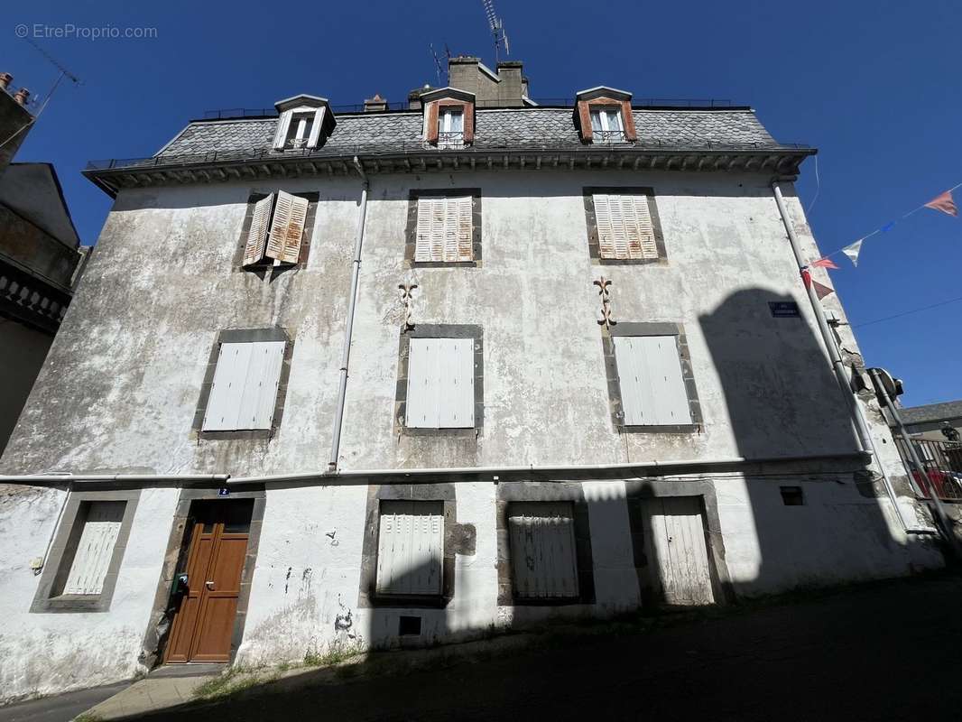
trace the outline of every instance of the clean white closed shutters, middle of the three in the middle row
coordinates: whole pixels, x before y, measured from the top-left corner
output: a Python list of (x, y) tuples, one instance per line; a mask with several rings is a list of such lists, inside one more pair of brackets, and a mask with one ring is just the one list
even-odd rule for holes
[(411, 339), (405, 424), (474, 426), (474, 340)]

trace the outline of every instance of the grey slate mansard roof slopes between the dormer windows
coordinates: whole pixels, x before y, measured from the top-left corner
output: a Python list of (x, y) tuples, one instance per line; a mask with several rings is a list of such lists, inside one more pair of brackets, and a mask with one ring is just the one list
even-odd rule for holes
[[(633, 115), (639, 144), (643, 146), (781, 147), (749, 109), (635, 110)], [(420, 111), (338, 116), (338, 125), (323, 150), (363, 152), (368, 148), (375, 152), (419, 146), (421, 117)], [(157, 155), (269, 148), (276, 124), (276, 118), (195, 120)], [(570, 108), (476, 111), (474, 148), (581, 145)]]

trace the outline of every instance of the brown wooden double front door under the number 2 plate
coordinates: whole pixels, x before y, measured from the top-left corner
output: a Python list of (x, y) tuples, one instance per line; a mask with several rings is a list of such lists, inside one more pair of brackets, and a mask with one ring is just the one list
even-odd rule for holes
[(164, 660), (230, 661), (253, 500), (195, 502), (188, 519), (188, 585), (174, 614)]

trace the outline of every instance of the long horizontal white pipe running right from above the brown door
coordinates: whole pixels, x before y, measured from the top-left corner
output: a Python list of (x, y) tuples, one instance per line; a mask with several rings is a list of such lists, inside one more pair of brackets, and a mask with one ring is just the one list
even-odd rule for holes
[[(430, 477), (430, 476), (492, 476), (508, 474), (545, 474), (557, 476), (563, 474), (623, 471), (658, 470), (664, 474), (679, 473), (680, 470), (704, 469), (717, 466), (740, 466), (746, 464), (789, 463), (793, 461), (819, 461), (838, 459), (859, 459), (865, 461), (867, 454), (861, 451), (848, 453), (818, 454), (812, 456), (772, 456), (765, 458), (746, 458), (744, 456), (729, 456), (720, 458), (680, 459), (677, 461), (644, 461), (636, 464), (568, 464), (560, 466), (463, 466), (438, 467), (433, 469), (353, 469), (337, 472), (303, 472), (300, 474), (272, 474), (262, 477), (232, 477), (227, 481), (228, 486), (242, 484), (261, 484), (271, 482), (297, 482), (316, 479), (320, 483), (328, 481), (364, 480), (371, 477)], [(647, 475), (654, 476), (654, 475)], [(451, 479), (456, 481), (457, 479)]]

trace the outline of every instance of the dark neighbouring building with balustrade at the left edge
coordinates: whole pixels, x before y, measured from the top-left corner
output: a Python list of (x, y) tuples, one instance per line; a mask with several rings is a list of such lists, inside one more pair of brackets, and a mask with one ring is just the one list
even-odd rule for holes
[(0, 73), (0, 450), (53, 343), (85, 250), (48, 163), (11, 163), (33, 125), (29, 92)]

